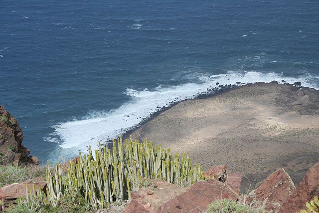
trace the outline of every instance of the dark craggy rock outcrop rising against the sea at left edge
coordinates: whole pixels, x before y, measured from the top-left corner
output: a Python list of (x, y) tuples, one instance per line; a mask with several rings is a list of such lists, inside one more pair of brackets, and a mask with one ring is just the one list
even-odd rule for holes
[(19, 166), (35, 164), (32, 157), (28, 157), (30, 150), (21, 144), (22, 140), (19, 123), (0, 105), (0, 160), (3, 163), (13, 162)]

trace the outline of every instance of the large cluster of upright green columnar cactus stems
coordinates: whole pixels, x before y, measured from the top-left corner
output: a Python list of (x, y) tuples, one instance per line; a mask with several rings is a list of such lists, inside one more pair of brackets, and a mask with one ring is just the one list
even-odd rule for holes
[(147, 139), (126, 140), (124, 147), (122, 137), (113, 140), (113, 150), (108, 147), (95, 150), (91, 147), (89, 154), (81, 156), (77, 165), (69, 162), (66, 176), (60, 163), (55, 164), (51, 173), (49, 162), (46, 180), (48, 183), (47, 199), (54, 207), (63, 194), (71, 188), (78, 190), (87, 202), (103, 208), (104, 203), (113, 203), (131, 199), (130, 192), (139, 189), (147, 179), (161, 179), (178, 186), (190, 186), (203, 180), (202, 167), (192, 167), (188, 153), (181, 156), (171, 155), (170, 149), (153, 145)]

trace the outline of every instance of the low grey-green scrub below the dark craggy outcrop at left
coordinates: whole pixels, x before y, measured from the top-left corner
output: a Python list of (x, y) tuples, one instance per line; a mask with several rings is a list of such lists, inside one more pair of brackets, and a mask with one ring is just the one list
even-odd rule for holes
[(0, 187), (5, 184), (23, 182), (36, 177), (44, 178), (46, 168), (44, 167), (19, 167), (11, 165), (0, 165)]

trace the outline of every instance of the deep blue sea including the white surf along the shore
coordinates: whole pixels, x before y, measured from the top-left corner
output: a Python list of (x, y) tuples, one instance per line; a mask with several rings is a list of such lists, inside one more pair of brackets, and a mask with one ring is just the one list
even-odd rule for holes
[(318, 0), (0, 1), (0, 103), (42, 163), (216, 82), (272, 80), (319, 88)]

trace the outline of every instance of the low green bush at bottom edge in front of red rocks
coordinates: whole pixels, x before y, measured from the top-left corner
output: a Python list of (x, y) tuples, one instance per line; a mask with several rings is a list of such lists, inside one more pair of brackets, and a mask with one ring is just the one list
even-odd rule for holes
[(215, 200), (206, 210), (207, 213), (264, 213), (263, 211), (263, 208), (253, 209), (229, 199)]

